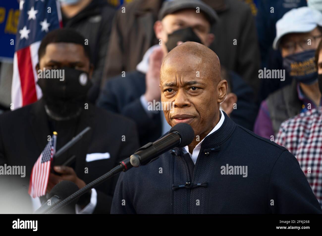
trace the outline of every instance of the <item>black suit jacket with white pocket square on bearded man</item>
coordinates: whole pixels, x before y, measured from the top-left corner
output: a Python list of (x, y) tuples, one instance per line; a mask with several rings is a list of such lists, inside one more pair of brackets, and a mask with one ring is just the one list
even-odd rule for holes
[[(136, 126), (128, 118), (89, 104), (79, 117), (76, 134), (88, 126), (92, 132), (82, 141), (89, 142), (87, 153), (109, 153), (110, 158), (86, 162), (85, 153), (78, 153), (84, 148), (71, 149), (69, 155), (77, 155), (75, 172), (85, 183), (105, 174), (138, 148)], [(17, 186), (28, 187), (33, 165), (47, 144), (48, 135), (52, 134), (42, 100), (0, 116), (0, 165), (26, 166), (26, 176), (18, 178)], [(125, 135), (125, 141), (122, 141), (122, 135)], [(58, 134), (57, 140), (59, 138)], [(54, 161), (55, 164), (63, 162), (62, 159)], [(85, 167), (88, 167), (88, 173), (85, 173)], [(94, 213), (109, 213), (117, 179), (118, 176), (95, 188), (97, 205)]]

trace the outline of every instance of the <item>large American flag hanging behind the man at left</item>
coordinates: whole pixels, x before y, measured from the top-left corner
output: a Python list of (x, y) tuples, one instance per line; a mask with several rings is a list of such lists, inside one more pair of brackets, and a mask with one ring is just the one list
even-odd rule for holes
[(20, 0), (20, 15), (15, 41), (14, 73), (11, 87), (13, 109), (33, 103), (41, 98), (37, 85), (38, 48), (43, 37), (62, 28), (59, 1)]

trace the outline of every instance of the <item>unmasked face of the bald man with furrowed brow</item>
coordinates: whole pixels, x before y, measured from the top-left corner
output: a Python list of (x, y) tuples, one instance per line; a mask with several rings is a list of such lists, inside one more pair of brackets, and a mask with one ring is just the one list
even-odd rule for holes
[[(161, 101), (172, 104), (171, 110), (164, 109), (170, 126), (185, 122), (191, 125), (195, 135), (201, 135), (215, 126), (219, 104), (224, 100), (226, 89), (220, 92), (213, 77), (199, 57), (179, 57), (164, 63), (160, 78)], [(199, 77), (196, 74), (199, 72)]]

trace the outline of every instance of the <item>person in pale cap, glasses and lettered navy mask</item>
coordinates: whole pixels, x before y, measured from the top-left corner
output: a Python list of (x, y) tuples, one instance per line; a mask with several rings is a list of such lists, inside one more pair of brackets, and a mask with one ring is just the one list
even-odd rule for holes
[[(314, 63), (321, 38), (322, 13), (313, 8), (292, 9), (276, 23), (273, 48), (279, 49), (283, 58), (279, 75), (289, 75), (292, 82), (261, 103), (254, 126), (256, 134), (271, 139), (284, 120), (321, 104)], [(274, 79), (282, 81), (282, 77)]]

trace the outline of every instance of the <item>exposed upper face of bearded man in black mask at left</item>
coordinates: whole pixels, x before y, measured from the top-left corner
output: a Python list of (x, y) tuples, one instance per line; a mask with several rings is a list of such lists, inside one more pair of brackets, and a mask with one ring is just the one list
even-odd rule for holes
[(70, 67), (89, 73), (91, 77), (90, 60), (86, 57), (84, 48), (75, 43), (50, 43), (45, 54), (39, 61), (38, 69), (59, 69)]

